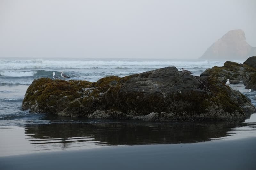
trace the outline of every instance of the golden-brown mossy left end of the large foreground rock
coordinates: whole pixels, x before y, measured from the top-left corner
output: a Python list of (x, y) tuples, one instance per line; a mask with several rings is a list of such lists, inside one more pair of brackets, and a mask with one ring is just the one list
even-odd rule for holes
[(83, 88), (90, 87), (92, 87), (92, 82), (89, 81), (36, 79), (26, 91), (22, 109), (27, 110), (39, 103), (37, 107), (33, 107), (34, 111), (54, 113), (60, 111), (61, 108), (66, 108), (71, 101), (81, 97)]

